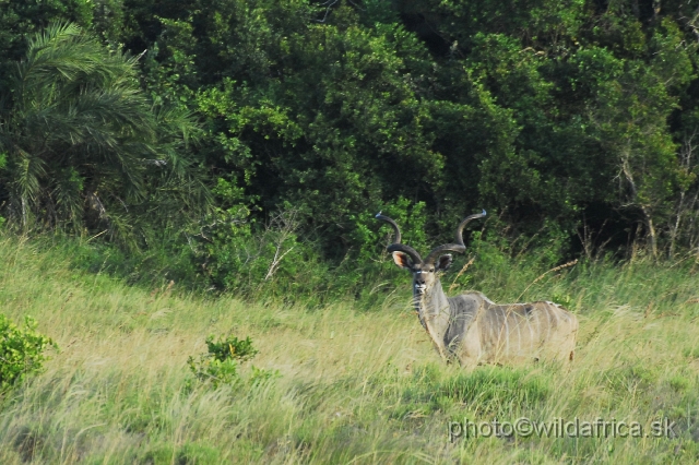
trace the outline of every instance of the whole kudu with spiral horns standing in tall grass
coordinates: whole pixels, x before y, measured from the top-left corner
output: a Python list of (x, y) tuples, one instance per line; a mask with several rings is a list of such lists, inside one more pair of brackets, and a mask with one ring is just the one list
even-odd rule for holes
[(439, 272), (447, 271), (452, 255), (466, 250), (462, 231), (483, 213), (466, 217), (457, 228), (454, 243), (435, 248), (425, 260), (401, 243), (398, 224), (380, 213), (377, 219), (390, 224), (395, 241), (387, 248), (395, 264), (413, 274), (413, 301), (423, 327), (439, 355), (461, 365), (511, 365), (530, 360), (572, 360), (578, 319), (562, 307), (548, 302), (505, 303), (472, 291), (447, 297)]

